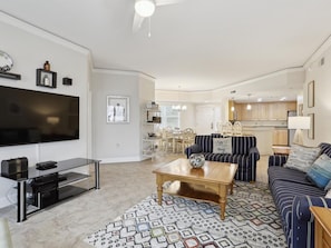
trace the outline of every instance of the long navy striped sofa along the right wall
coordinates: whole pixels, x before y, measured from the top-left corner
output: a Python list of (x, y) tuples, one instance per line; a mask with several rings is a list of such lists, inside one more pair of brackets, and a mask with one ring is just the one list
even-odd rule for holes
[[(321, 153), (331, 157), (331, 143), (320, 143)], [(305, 173), (283, 167), (288, 156), (269, 157), (269, 186), (280, 214), (289, 248), (314, 247), (314, 218), (311, 206), (331, 208), (327, 191), (311, 183)]]

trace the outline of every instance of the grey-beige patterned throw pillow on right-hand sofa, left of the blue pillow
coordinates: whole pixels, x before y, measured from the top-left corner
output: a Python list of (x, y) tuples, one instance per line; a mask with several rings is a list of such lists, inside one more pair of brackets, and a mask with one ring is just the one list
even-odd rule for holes
[(319, 147), (303, 147), (292, 145), (284, 167), (306, 172), (320, 153)]

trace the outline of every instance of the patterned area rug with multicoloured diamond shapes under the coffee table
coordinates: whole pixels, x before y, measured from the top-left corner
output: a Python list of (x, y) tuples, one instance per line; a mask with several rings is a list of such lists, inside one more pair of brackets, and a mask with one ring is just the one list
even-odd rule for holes
[(236, 182), (225, 220), (213, 202), (153, 195), (85, 241), (98, 248), (280, 248), (286, 247), (281, 220), (266, 185)]

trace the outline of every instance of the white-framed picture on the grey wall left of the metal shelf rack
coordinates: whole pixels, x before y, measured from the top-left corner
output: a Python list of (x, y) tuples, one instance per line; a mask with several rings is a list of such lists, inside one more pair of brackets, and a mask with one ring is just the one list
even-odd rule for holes
[(107, 123), (129, 122), (129, 98), (107, 96)]

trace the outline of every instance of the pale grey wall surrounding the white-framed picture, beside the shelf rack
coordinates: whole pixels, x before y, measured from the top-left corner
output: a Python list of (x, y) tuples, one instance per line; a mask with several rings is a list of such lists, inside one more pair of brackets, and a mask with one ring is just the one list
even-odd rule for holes
[[(106, 122), (107, 96), (129, 97), (129, 122)], [(101, 162), (142, 159), (142, 111), (154, 100), (154, 81), (136, 72), (94, 70), (93, 72), (93, 153)]]

